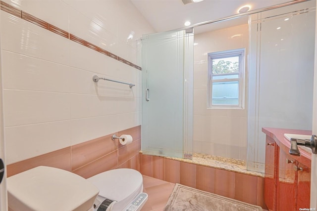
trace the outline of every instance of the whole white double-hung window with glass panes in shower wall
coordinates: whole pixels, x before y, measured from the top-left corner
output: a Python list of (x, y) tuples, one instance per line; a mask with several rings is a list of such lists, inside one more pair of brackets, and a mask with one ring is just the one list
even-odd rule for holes
[(245, 49), (208, 54), (208, 107), (244, 107)]

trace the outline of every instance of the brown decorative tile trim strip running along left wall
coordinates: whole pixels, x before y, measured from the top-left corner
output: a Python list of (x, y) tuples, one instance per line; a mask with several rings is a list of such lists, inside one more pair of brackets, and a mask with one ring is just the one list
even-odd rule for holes
[(26, 21), (28, 21), (30, 23), (33, 23), (33, 24), (35, 24), (37, 26), (40, 26), (40, 27), (42, 27), (44, 29), (47, 29), (47, 30), (59, 35), (59, 36), (62, 36), (62, 37), (67, 38), (67, 39), (69, 39), (71, 41), (77, 42), (77, 43), (82, 44), (82, 45), (84, 45), (86, 47), (89, 47), (89, 48), (91, 48), (93, 50), (96, 50), (96, 51), (98, 51), (98, 52), (100, 52), (102, 54), (105, 54), (106, 56), (109, 56), (109, 57), (111, 57), (111, 58), (113, 58), (115, 60), (118, 60), (118, 61), (120, 61), (120, 62), (122, 62), (122, 63), (124, 63), (126, 65), (129, 65), (129, 66), (131, 66), (133, 68), (136, 68), (138, 70), (142, 70), (141, 67), (133, 64), (132, 62), (129, 62), (129, 61), (127, 61), (127, 60), (125, 60), (125, 59), (113, 54), (113, 53), (110, 53), (109, 51), (107, 51), (107, 50), (105, 50), (105, 49), (103, 49), (101, 47), (98, 47), (97, 45), (94, 45), (94, 44), (92, 44), (90, 42), (87, 42), (87, 41), (85, 41), (83, 39), (80, 39), (80, 38), (76, 37), (75, 35), (72, 35), (72, 34), (66, 32), (66, 31), (64, 31), (62, 29), (59, 29), (58, 27), (55, 27), (55, 26), (53, 26), (53, 25), (51, 25), (51, 24), (49, 24), (49, 23), (47, 23), (47, 22), (45, 22), (45, 21), (33, 16), (31, 14), (28, 14), (28, 13), (22, 11), (22, 10), (19, 10), (19, 9), (11, 6), (10, 4), (7, 4), (7, 3), (1, 1), (1, 0), (0, 0), (0, 9), (5, 11), (5, 12), (8, 12), (8, 13), (14, 15), (14, 16), (22, 18), (22, 19), (24, 19), (24, 20), (26, 20)]

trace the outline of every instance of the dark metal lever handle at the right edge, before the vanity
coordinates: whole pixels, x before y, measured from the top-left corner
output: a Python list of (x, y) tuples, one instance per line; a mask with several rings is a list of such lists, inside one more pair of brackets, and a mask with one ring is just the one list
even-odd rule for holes
[(312, 135), (311, 139), (291, 138), (291, 148), (289, 149), (289, 154), (301, 156), (301, 153), (297, 145), (309, 147), (312, 149), (312, 153), (317, 154), (317, 136), (316, 135)]

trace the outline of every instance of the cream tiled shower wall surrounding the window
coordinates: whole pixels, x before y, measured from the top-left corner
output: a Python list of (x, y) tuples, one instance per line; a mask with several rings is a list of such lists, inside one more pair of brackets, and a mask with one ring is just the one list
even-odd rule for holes
[[(232, 39), (236, 34), (241, 36)], [(194, 46), (194, 152), (246, 160), (248, 108), (207, 108), (207, 54), (242, 47), (246, 48), (247, 54), (248, 25), (198, 34), (194, 42), (197, 43)], [(246, 79), (247, 73), (248, 69)]]

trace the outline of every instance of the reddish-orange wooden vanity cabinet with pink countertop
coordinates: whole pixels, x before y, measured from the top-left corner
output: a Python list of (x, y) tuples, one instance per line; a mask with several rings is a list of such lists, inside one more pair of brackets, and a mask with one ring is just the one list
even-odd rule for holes
[(311, 155), (289, 154), (284, 133), (311, 134), (308, 130), (263, 128), (266, 134), (264, 202), (269, 211), (299, 211), (310, 208)]

